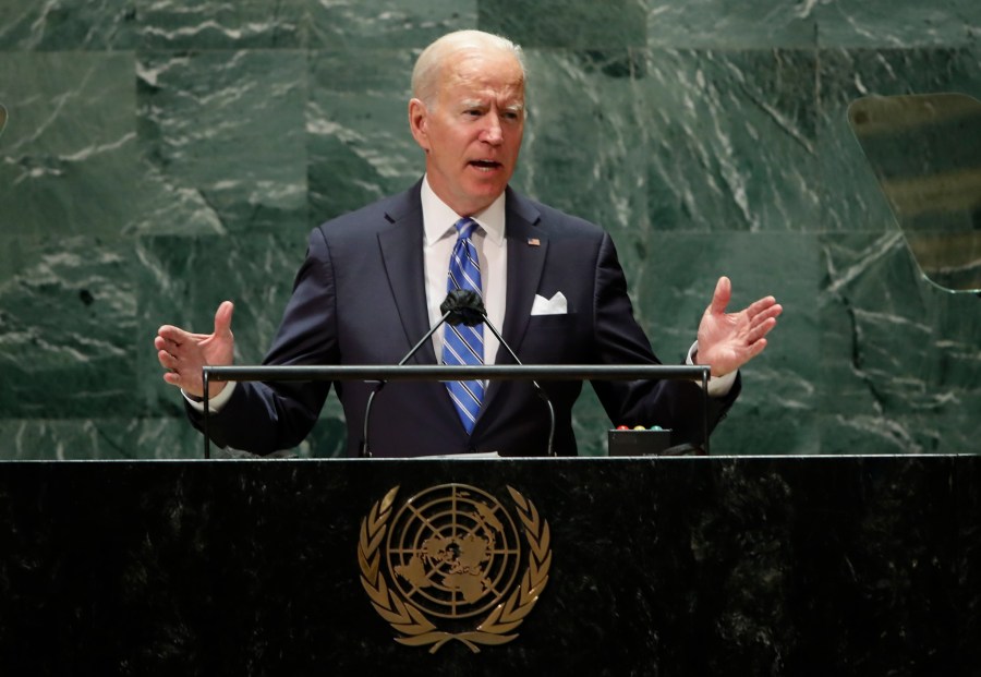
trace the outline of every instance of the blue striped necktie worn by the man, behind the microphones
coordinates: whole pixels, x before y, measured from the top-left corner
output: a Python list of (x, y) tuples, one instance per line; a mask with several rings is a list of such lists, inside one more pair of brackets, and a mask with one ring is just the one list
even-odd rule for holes
[[(470, 235), (476, 230), (473, 219), (462, 218), (455, 223), (459, 237), (450, 256), (447, 292), (462, 289), (475, 291), (483, 298), (481, 290), (481, 263), (476, 247)], [(484, 363), (484, 325), (468, 327), (463, 324), (446, 325), (443, 344), (443, 363), (447, 365), (483, 364)], [(447, 382), (447, 389), (457, 406), (460, 421), (469, 435), (481, 411), (484, 400), (484, 383), (481, 380)]]

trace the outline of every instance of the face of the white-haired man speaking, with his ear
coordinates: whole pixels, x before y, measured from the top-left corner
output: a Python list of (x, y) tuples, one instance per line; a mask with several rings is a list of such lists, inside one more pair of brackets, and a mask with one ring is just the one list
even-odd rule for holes
[(524, 77), (510, 53), (465, 52), (444, 67), (435, 105), (409, 104), (429, 185), (453, 211), (476, 214), (514, 173), (524, 133)]

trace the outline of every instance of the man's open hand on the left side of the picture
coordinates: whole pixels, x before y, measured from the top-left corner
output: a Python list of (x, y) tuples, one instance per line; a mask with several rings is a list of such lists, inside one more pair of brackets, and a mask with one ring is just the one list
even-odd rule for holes
[[(231, 333), (231, 301), (225, 301), (215, 313), (213, 334), (191, 334), (180, 327), (164, 325), (157, 330), (154, 347), (157, 359), (167, 370), (164, 380), (178, 386), (187, 395), (204, 397), (204, 366), (229, 366), (234, 359), (235, 339)], [(208, 384), (208, 397), (215, 397), (225, 388), (223, 382)]]

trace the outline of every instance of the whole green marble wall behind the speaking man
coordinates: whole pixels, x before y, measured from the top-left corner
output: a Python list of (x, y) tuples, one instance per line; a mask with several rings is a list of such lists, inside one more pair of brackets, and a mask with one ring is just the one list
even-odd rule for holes
[[(0, 457), (201, 454), (156, 328), (237, 301), (241, 362), (314, 225), (420, 173), (419, 49), (476, 26), (531, 69), (521, 190), (603, 223), (655, 349), (714, 280), (785, 315), (726, 454), (973, 452), (981, 301), (923, 282), (845, 109), (981, 96), (977, 0), (4, 0)], [(584, 398), (578, 434), (605, 449)], [(331, 403), (301, 454), (331, 456)]]

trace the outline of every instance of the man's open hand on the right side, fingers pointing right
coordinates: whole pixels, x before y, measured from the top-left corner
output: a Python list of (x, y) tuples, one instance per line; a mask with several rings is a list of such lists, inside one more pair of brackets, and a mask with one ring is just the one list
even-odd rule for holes
[(732, 298), (732, 282), (718, 278), (712, 303), (699, 324), (695, 362), (712, 365), (713, 376), (725, 376), (759, 355), (766, 348), (766, 335), (784, 311), (776, 299), (765, 297), (738, 313), (726, 313)]

